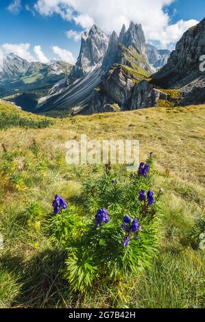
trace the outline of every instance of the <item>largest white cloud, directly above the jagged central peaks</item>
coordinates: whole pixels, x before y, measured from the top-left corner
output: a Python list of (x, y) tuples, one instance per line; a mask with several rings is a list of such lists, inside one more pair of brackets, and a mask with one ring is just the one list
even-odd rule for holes
[(178, 21), (171, 25), (165, 6), (176, 0), (36, 0), (35, 9), (40, 14), (60, 14), (83, 29), (96, 23), (105, 32), (120, 32), (123, 23), (141, 23), (147, 40), (158, 41), (168, 47), (182, 36), (186, 27), (197, 21)]

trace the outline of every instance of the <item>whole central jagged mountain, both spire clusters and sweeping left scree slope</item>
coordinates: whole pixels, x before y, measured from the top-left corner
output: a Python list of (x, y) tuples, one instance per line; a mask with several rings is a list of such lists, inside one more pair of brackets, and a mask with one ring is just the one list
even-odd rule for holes
[(119, 37), (113, 32), (110, 38), (94, 25), (82, 36), (71, 75), (40, 99), (36, 111), (68, 109), (90, 114), (116, 101), (126, 109), (134, 84), (151, 73), (141, 25), (130, 23), (128, 31), (123, 25)]

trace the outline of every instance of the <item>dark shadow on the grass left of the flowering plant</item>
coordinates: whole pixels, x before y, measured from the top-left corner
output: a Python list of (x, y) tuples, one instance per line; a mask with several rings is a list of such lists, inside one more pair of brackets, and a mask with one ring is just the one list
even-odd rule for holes
[(10, 252), (1, 257), (1, 265), (10, 273), (19, 273), (21, 293), (12, 307), (17, 308), (68, 308), (77, 302), (77, 295), (69, 291), (69, 284), (62, 279), (62, 269), (67, 253), (60, 250), (46, 250), (31, 260), (12, 256)]

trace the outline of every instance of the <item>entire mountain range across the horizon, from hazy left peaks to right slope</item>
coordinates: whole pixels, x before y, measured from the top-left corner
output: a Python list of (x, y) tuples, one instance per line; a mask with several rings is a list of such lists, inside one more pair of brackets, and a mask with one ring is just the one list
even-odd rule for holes
[[(17, 84), (46, 83), (46, 95), (36, 94), (30, 103), (27, 92), (20, 97), (25, 96), (24, 109), (51, 116), (185, 106), (205, 102), (205, 75), (199, 69), (204, 54), (205, 18), (184, 33), (172, 53), (147, 44), (140, 24), (131, 22), (128, 30), (123, 25), (119, 36), (116, 32), (108, 36), (93, 25), (82, 34), (75, 66), (28, 63), (21, 58), (13, 64), (10, 55), (3, 71), (8, 77), (1, 81), (1, 72), (0, 83), (17, 89)], [(14, 84), (9, 77), (16, 79)], [(59, 81), (51, 86), (56, 77)], [(12, 97), (22, 106), (18, 98)]]

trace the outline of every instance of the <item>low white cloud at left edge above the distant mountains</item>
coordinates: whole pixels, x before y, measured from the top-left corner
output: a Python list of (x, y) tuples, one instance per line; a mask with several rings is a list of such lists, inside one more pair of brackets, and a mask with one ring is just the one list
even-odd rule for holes
[(34, 62), (35, 58), (29, 52), (30, 44), (4, 44), (0, 47), (3, 56), (7, 56), (10, 53), (28, 60), (29, 62)]

